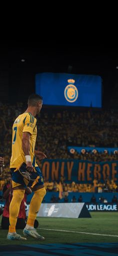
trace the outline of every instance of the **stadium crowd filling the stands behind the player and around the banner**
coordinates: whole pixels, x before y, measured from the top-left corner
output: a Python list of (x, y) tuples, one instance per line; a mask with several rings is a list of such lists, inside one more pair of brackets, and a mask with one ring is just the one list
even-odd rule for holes
[[(23, 113), (26, 106), (18, 102), (16, 105), (0, 103), (0, 153), (4, 156), (3, 173), (0, 175), (0, 189), (10, 176), (9, 160), (11, 156), (12, 124), (15, 118)], [(117, 110), (93, 110), (89, 109), (56, 109), (42, 108), (39, 120), (37, 120), (36, 149), (43, 151), (48, 159), (80, 159), (90, 161), (117, 160), (117, 153), (106, 152), (71, 154), (67, 146), (96, 146), (117, 147), (118, 144), (118, 115)], [(40, 162), (36, 159), (37, 164)], [(47, 191), (58, 191), (56, 182), (45, 182)], [(116, 191), (117, 185), (113, 181), (108, 184), (96, 186), (92, 184), (63, 183), (63, 191), (99, 192)], [(105, 186), (105, 187), (104, 187)], [(96, 187), (96, 188), (95, 188)]]

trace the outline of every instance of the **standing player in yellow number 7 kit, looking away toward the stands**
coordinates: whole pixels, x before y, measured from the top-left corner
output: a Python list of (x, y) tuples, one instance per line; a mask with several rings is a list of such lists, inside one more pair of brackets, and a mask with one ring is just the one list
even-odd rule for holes
[[(42, 107), (42, 97), (37, 94), (32, 94), (28, 97), (28, 107), (26, 111), (19, 115), (13, 123), (12, 127), (12, 155), (10, 159), (10, 170), (12, 172), (12, 188), (13, 197), (9, 206), (9, 230), (7, 239), (9, 240), (26, 240), (25, 237), (17, 234), (15, 231), (16, 220), (19, 212), (20, 203), (24, 197), (26, 186), (32, 186), (34, 181), (27, 181), (17, 170), (20, 165), (25, 162), (26, 170), (33, 173), (33, 168), (38, 174), (38, 180), (32, 186), (34, 192), (29, 205), (29, 213), (27, 223), (23, 229), (25, 236), (32, 236), (39, 240), (44, 240), (44, 237), (39, 235), (33, 227), (36, 214), (40, 208), (41, 201), (46, 193), (43, 184), (41, 171), (36, 164), (34, 156), (34, 147), (36, 140), (36, 118)], [(44, 159), (46, 155), (43, 152), (36, 150), (38, 158)]]

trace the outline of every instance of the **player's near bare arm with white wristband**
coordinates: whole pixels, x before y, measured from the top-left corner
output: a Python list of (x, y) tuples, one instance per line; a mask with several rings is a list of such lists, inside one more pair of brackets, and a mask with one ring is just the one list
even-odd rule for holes
[(28, 171), (33, 171), (33, 166), (30, 160), (30, 133), (29, 132), (23, 132), (22, 136), (22, 150), (24, 152), (25, 158), (26, 158), (26, 169)]

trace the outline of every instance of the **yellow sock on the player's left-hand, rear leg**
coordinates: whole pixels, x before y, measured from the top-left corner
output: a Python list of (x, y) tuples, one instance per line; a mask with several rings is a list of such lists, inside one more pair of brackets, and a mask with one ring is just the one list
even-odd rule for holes
[(13, 197), (9, 205), (9, 230), (8, 232), (15, 232), (15, 225), (19, 213), (20, 203), (24, 197), (24, 190), (13, 190)]

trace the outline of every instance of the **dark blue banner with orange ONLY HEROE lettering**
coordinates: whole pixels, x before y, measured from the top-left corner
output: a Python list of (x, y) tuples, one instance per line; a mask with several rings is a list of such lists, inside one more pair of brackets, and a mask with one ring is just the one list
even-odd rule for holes
[(41, 171), (44, 180), (59, 181), (64, 176), (67, 182), (91, 183), (94, 178), (103, 182), (108, 176), (116, 183), (118, 180), (118, 161), (91, 162), (83, 160), (43, 160)]

